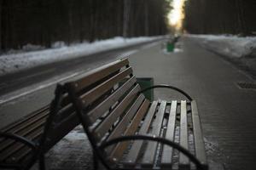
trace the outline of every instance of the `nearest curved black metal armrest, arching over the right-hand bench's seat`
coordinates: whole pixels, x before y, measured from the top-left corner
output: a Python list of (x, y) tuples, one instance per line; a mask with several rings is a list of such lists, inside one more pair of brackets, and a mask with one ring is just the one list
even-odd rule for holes
[(160, 142), (162, 144), (167, 144), (167, 145), (171, 146), (172, 148), (181, 151), (185, 156), (188, 156), (189, 159), (195, 163), (195, 166), (197, 167), (197, 169), (201, 169), (201, 170), (204, 169), (203, 165), (201, 164), (201, 161), (199, 161), (194, 155), (192, 155), (189, 152), (189, 150), (184, 149), (182, 146), (172, 142), (171, 140), (160, 138), (160, 137), (155, 137), (155, 136), (149, 136), (149, 135), (122, 136), (122, 137), (119, 137), (116, 139), (111, 139), (108, 142), (101, 144), (99, 146), (99, 149), (104, 150), (104, 148), (106, 148), (112, 144), (117, 144), (119, 142), (124, 142), (127, 140), (151, 140), (151, 141), (155, 141), (155, 142)]

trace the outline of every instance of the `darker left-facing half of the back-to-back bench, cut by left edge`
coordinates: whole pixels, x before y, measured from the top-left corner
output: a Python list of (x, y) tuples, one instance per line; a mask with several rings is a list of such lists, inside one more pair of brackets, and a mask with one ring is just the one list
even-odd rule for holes
[(0, 131), (0, 168), (29, 169), (44, 153), (79, 125), (67, 93), (57, 86), (55, 99)]

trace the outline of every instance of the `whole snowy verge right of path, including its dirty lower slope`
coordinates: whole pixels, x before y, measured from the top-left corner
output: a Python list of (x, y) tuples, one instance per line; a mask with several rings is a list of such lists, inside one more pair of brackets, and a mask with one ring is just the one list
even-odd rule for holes
[(236, 62), (256, 77), (256, 37), (186, 35), (202, 47)]

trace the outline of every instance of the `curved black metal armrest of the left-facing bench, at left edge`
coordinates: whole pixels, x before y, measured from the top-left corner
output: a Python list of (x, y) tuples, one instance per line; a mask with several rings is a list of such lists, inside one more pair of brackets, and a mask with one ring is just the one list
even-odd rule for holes
[(33, 143), (32, 141), (19, 136), (15, 133), (2, 133), (0, 132), (0, 138), (8, 138), (8, 139), (14, 139), (22, 144), (26, 144), (27, 146), (29, 146), (30, 148), (32, 148), (32, 150), (36, 150), (37, 149), (37, 144)]

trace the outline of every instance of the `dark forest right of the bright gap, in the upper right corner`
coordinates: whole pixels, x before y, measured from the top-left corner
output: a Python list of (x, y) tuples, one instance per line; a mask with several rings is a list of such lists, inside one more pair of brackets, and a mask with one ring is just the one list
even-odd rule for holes
[(256, 34), (255, 0), (188, 0), (184, 5), (186, 31), (195, 34)]

